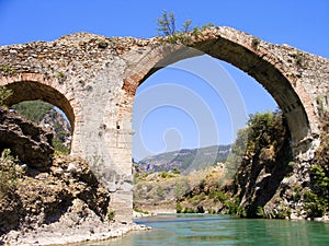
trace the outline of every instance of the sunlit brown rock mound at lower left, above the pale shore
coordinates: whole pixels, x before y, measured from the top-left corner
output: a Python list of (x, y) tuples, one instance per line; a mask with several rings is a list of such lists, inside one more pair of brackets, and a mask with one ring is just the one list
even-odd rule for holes
[(111, 220), (109, 202), (110, 192), (83, 160), (63, 156), (47, 172), (27, 168), (14, 189), (0, 197), (0, 244), (10, 231), (23, 238), (23, 231), (45, 226), (54, 232), (82, 225), (99, 230)]

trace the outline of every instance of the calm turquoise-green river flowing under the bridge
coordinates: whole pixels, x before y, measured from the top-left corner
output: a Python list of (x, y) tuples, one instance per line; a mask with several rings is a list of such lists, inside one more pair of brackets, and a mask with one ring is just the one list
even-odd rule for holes
[(166, 214), (136, 220), (152, 230), (84, 246), (329, 245), (329, 223), (243, 220), (227, 215)]

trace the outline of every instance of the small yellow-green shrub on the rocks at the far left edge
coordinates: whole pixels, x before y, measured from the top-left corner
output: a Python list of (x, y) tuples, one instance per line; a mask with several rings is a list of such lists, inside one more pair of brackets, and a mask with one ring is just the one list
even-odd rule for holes
[(18, 159), (11, 155), (9, 149), (4, 149), (0, 157), (0, 199), (15, 189), (22, 168), (16, 167)]

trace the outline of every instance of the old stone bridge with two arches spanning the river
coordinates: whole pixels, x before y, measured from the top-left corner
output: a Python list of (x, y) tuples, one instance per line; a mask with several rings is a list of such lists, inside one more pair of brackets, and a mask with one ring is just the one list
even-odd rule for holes
[(0, 85), (13, 91), (8, 105), (42, 99), (65, 112), (72, 127), (71, 154), (87, 159), (99, 172), (113, 192), (116, 218), (126, 221), (133, 207), (136, 89), (158, 69), (202, 54), (227, 61), (261, 83), (288, 121), (294, 155), (311, 157), (319, 142), (319, 108), (328, 109), (329, 60), (229, 27), (178, 40), (77, 33), (55, 42), (3, 46)]

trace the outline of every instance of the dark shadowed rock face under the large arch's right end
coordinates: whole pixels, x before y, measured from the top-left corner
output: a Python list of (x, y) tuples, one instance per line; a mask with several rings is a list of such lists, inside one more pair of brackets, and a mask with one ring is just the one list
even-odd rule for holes
[(282, 117), (276, 116), (275, 120), (272, 127), (253, 130), (253, 140), (235, 176), (235, 195), (248, 218), (263, 216), (260, 208), (274, 202), (274, 195), (280, 196), (282, 190), (281, 181), (293, 171), (290, 132)]

